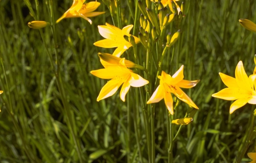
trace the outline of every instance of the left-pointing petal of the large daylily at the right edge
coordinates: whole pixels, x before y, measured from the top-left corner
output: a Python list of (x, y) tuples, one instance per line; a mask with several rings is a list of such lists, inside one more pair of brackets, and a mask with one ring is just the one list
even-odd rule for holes
[(240, 98), (250, 97), (250, 93), (251, 91), (247, 91), (241, 88), (224, 88), (219, 92), (212, 94), (212, 96), (224, 100), (236, 100)]

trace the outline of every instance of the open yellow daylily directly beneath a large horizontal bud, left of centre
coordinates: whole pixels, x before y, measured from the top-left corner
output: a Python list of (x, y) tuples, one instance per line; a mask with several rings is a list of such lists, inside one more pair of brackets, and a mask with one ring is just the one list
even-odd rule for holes
[(104, 69), (94, 70), (90, 73), (101, 79), (111, 80), (103, 86), (97, 101), (112, 96), (122, 84), (120, 98), (122, 101), (125, 101), (125, 95), (131, 86), (140, 87), (149, 83), (146, 79), (143, 79), (126, 67), (125, 58), (120, 59), (118, 64), (115, 64), (115, 61), (109, 63), (104, 61), (101, 63), (105, 67)]

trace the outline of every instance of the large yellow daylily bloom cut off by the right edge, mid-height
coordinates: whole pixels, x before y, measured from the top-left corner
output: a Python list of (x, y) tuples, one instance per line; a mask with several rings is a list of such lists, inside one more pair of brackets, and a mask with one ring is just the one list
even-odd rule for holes
[(256, 87), (256, 85), (254, 85), (256, 74), (250, 75), (248, 78), (242, 61), (239, 61), (236, 66), (236, 78), (222, 73), (219, 74), (221, 80), (228, 88), (224, 88), (218, 93), (212, 94), (212, 96), (224, 100), (236, 100), (230, 106), (230, 114), (246, 103), (256, 104), (256, 91), (254, 90)]

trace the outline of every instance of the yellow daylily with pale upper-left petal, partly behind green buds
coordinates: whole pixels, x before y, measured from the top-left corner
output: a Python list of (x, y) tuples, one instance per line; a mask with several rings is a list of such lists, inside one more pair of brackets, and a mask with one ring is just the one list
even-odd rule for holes
[[(125, 50), (129, 49), (129, 47), (132, 46), (131, 43), (129, 43), (124, 39), (124, 35), (131, 36), (131, 34), (129, 33), (132, 27), (133, 25), (128, 25), (121, 30), (108, 23), (106, 23), (106, 26), (98, 26), (100, 35), (102, 35), (106, 39), (99, 40), (95, 42), (94, 45), (98, 47), (103, 47), (103, 48), (117, 47), (117, 49), (115, 49), (112, 55), (116, 57), (120, 57), (120, 55), (122, 55), (125, 52)], [(139, 38), (135, 36), (133, 37), (135, 39), (136, 44), (140, 42)]]

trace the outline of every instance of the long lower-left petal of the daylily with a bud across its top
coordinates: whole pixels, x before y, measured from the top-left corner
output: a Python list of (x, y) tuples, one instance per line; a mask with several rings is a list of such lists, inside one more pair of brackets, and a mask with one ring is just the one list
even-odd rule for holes
[(108, 83), (105, 84), (100, 90), (100, 94), (97, 97), (97, 101), (100, 101), (115, 94), (115, 92), (118, 90), (122, 83), (122, 80), (118, 80), (116, 78), (113, 78), (110, 81), (108, 81)]

